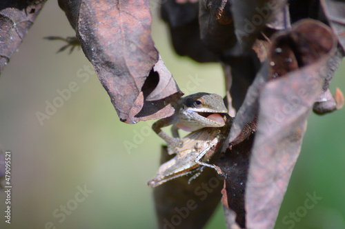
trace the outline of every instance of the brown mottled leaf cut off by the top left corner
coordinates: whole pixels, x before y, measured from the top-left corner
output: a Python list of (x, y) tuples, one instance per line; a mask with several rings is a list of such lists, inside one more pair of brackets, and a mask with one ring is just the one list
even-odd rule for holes
[(46, 1), (0, 2), (0, 73), (17, 51), (23, 37)]

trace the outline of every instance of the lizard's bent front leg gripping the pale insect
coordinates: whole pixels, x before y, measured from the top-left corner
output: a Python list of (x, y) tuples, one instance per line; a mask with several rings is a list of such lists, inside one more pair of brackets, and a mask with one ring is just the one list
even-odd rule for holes
[(173, 153), (179, 154), (178, 148), (181, 148), (184, 145), (184, 142), (179, 139), (179, 137), (170, 137), (164, 130), (161, 130), (161, 128), (164, 128), (165, 126), (170, 126), (173, 124), (174, 119), (172, 117), (167, 117), (165, 119), (159, 119), (152, 125), (152, 130), (156, 132), (156, 134), (164, 139), (166, 143), (168, 144), (168, 153), (169, 155), (172, 155)]

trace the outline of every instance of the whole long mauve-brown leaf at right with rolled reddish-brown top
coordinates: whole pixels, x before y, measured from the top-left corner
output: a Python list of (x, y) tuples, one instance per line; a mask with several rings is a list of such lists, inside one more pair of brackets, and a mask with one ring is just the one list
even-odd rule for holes
[(299, 68), (268, 81), (259, 95), (259, 119), (245, 193), (247, 228), (275, 225), (308, 114), (322, 93), (327, 62), (336, 48), (331, 30), (313, 20), (300, 21), (292, 31), (278, 34), (270, 53), (284, 41), (290, 42)]

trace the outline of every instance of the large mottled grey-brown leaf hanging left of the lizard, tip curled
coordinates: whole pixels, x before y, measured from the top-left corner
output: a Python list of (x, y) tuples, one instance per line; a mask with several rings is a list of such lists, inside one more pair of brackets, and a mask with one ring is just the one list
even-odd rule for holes
[(178, 94), (177, 99), (182, 94), (153, 45), (149, 1), (60, 0), (59, 5), (121, 121), (137, 123), (171, 114), (166, 102), (172, 101), (172, 94)]

